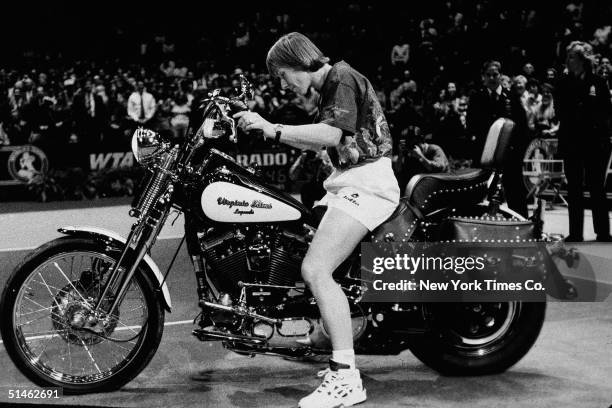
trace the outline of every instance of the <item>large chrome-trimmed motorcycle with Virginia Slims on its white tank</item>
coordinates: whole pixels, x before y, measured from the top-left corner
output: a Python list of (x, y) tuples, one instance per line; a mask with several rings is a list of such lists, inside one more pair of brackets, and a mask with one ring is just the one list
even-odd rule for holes
[[(300, 276), (319, 218), (212, 147), (236, 141), (232, 114), (248, 109), (249, 98), (245, 78), (239, 96), (215, 90), (202, 105), (201, 125), (180, 144), (151, 130), (134, 132), (132, 150), (148, 179), (130, 210), (136, 221), (127, 238), (62, 227), (65, 236), (16, 267), (2, 294), (1, 333), (30, 380), (67, 394), (101, 392), (125, 385), (147, 366), (172, 308), (170, 268), (163, 274), (149, 253), (173, 209), (185, 215), (183, 239), (197, 281), (195, 337), (251, 356), (330, 353), (329, 334)], [(515, 234), (519, 223), (542, 235), (540, 222), (501, 205), (499, 169), (511, 127), (496, 122), (482, 169), (415, 176), (396, 212), (367, 239), (440, 239), (444, 221), (461, 217), (494, 218), (497, 234)], [(443, 374), (498, 373), (528, 352), (544, 321), (545, 302), (367, 303), (359, 268), (357, 248), (333, 275), (349, 300), (358, 353), (410, 349)]]

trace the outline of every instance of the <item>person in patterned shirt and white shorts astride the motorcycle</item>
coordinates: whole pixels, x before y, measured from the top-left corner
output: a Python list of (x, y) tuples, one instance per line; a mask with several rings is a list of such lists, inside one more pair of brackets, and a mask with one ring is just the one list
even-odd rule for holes
[(307, 37), (290, 33), (268, 51), (270, 74), (283, 88), (319, 94), (316, 123), (272, 124), (255, 112), (234, 115), (245, 131), (260, 129), (265, 138), (299, 149), (325, 147), (334, 171), (324, 182), (327, 194), (316, 205), (328, 209), (302, 263), (302, 277), (312, 291), (329, 332), (333, 354), (322, 384), (299, 406), (351, 406), (366, 399), (355, 353), (349, 305), (332, 273), (362, 238), (395, 210), (399, 187), (391, 168), (391, 135), (370, 81), (329, 58)]

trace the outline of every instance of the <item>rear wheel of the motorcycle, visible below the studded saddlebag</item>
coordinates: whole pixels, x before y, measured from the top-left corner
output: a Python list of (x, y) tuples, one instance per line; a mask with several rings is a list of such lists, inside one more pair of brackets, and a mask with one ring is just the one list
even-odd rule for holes
[(501, 373), (535, 343), (545, 302), (437, 303), (425, 306), (432, 329), (410, 346), (425, 365), (443, 375)]

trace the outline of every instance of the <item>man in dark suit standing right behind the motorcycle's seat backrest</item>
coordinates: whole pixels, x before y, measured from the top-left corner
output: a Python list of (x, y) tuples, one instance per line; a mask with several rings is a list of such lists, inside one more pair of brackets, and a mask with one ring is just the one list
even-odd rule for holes
[(512, 143), (503, 168), (502, 182), (510, 209), (527, 217), (527, 190), (523, 183), (523, 158), (528, 145), (527, 116), (520, 100), (501, 85), (501, 64), (487, 61), (482, 68), (483, 87), (470, 96), (467, 128), (471, 134), (474, 166), (480, 163), (489, 128), (504, 117), (515, 123)]

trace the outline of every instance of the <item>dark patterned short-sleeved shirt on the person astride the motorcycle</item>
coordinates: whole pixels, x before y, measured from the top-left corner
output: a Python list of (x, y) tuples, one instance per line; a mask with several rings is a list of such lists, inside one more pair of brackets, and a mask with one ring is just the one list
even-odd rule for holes
[(333, 65), (321, 88), (317, 123), (342, 130), (337, 146), (328, 153), (336, 168), (347, 169), (391, 156), (391, 133), (366, 77), (346, 62)]

